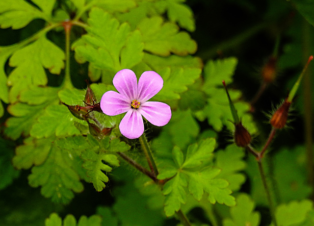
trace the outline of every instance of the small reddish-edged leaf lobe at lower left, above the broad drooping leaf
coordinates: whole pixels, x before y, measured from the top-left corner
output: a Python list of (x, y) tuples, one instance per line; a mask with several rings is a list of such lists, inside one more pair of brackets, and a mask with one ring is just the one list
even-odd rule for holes
[(13, 165), (17, 169), (29, 169), (32, 165), (39, 166), (44, 163), (52, 147), (52, 139), (24, 140), (24, 145), (16, 148)]

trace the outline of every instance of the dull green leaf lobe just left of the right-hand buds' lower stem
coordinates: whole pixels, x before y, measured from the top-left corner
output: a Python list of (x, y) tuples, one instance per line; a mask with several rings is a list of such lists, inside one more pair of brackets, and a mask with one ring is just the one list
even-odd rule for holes
[(215, 152), (215, 166), (221, 169), (218, 178), (224, 178), (229, 182), (229, 187), (232, 191), (240, 189), (245, 182), (243, 171), (246, 163), (243, 161), (245, 152), (242, 148), (236, 145), (229, 145), (226, 150)]

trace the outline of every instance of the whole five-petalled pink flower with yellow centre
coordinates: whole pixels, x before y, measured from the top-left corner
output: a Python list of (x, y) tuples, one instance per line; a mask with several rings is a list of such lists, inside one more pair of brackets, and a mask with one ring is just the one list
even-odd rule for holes
[(105, 92), (100, 101), (100, 107), (109, 116), (127, 112), (119, 125), (125, 137), (135, 139), (143, 134), (142, 116), (155, 126), (164, 126), (170, 121), (171, 109), (168, 104), (147, 101), (154, 97), (163, 86), (163, 80), (156, 72), (144, 72), (137, 84), (134, 72), (123, 69), (114, 75), (113, 85), (119, 93)]

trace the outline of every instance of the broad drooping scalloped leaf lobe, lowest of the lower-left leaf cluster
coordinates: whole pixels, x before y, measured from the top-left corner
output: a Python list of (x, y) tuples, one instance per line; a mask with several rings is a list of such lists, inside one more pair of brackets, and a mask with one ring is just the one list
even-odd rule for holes
[(68, 203), (73, 192), (82, 192), (83, 185), (76, 172), (79, 161), (68, 151), (62, 151), (52, 145), (47, 160), (31, 169), (28, 183), (32, 187), (41, 187), (41, 194), (53, 202)]

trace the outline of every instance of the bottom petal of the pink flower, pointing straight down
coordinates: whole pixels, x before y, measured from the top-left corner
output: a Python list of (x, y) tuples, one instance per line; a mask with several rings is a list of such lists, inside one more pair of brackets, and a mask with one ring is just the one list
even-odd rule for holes
[(120, 132), (129, 139), (139, 138), (144, 132), (142, 115), (138, 110), (130, 109), (121, 120)]

